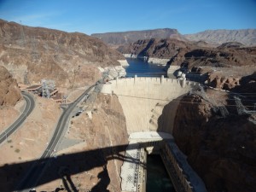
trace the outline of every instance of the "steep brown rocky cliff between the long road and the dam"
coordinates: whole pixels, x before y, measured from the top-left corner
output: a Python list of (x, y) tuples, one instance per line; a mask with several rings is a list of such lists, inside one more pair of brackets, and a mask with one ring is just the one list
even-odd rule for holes
[[(70, 172), (79, 170), (73, 175), (74, 180), (79, 181), (75, 183), (79, 191), (121, 191), (120, 167), (128, 143), (125, 115), (117, 96), (94, 96), (95, 92), (89, 97), (94, 101), (90, 108), (91, 118), (86, 111), (75, 116), (66, 135), (68, 139), (84, 143), (61, 150), (60, 154), (74, 155), (67, 159), (57, 158), (56, 164), (49, 167), (42, 179), (59, 177), (61, 167), (68, 167)], [(60, 183), (58, 181), (51, 191), (60, 187)]]

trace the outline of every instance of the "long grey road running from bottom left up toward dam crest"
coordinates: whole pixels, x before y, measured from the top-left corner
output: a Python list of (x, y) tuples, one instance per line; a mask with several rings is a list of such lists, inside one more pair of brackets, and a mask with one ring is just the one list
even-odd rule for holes
[(79, 98), (75, 102), (62, 106), (63, 113), (61, 114), (61, 118), (59, 119), (59, 122), (55, 128), (53, 137), (51, 138), (47, 148), (45, 149), (44, 154), (42, 154), (40, 159), (38, 159), (38, 161), (34, 163), (34, 165), (32, 165), (32, 167), (26, 172), (26, 176), (23, 178), (22, 181), (20, 181), (20, 184), (17, 188), (18, 191), (29, 191), (34, 186), (36, 186), (40, 177), (40, 173), (44, 172), (44, 168), (48, 163), (45, 162), (44, 159), (49, 158), (52, 154), (54, 154), (55, 147), (61, 139), (63, 132), (67, 128), (69, 117), (73, 112), (73, 109), (78, 105), (79, 102), (84, 99), (85, 94), (88, 94), (88, 92), (93, 87), (95, 87), (95, 85), (92, 85), (88, 90), (85, 90), (84, 93), (79, 96)]

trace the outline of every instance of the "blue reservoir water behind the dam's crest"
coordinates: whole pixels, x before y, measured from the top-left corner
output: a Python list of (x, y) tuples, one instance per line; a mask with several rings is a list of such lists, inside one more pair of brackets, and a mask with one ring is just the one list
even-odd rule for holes
[(161, 77), (164, 75), (166, 77), (166, 71), (164, 71), (165, 66), (159, 64), (151, 64), (140, 59), (130, 59), (126, 58), (129, 63), (128, 67), (125, 67), (126, 77)]

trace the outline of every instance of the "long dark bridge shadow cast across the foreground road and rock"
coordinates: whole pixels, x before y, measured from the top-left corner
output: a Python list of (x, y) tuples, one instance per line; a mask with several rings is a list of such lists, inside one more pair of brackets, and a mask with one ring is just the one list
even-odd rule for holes
[[(26, 162), (5, 164), (0, 166), (0, 191), (32, 189), (56, 179), (62, 180), (67, 191), (79, 191), (79, 189), (76, 189), (71, 176), (79, 172), (90, 171), (95, 167), (103, 167), (103, 171), (98, 175), (98, 178), (102, 179), (90, 191), (108, 191), (107, 188), (110, 183), (106, 168), (108, 160), (139, 163), (137, 159), (124, 155), (123, 152), (125, 152), (126, 147), (127, 145), (96, 148), (74, 154), (61, 154), (60, 156), (43, 160), (28, 160)], [(137, 145), (130, 144), (130, 147), (130, 149), (135, 149)], [(143, 167), (147, 168), (146, 165), (143, 165)], [(30, 172), (28, 172), (29, 170)], [(44, 173), (41, 175), (43, 171), (48, 172), (47, 177), (45, 177)], [(11, 183), (14, 175), (19, 177), (17, 183)], [(39, 178), (40, 175), (42, 176), (41, 178)], [(7, 188), (7, 185), (9, 188)], [(58, 191), (58, 189), (55, 191)]]

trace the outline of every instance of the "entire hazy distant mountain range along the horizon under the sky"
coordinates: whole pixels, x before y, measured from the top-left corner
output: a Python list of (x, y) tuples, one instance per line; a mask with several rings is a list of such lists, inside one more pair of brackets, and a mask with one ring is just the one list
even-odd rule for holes
[(177, 29), (154, 29), (131, 32), (95, 33), (91, 36), (102, 39), (110, 45), (131, 44), (137, 40), (150, 38), (177, 38), (183, 41), (205, 41), (208, 44), (220, 45), (228, 42), (239, 42), (246, 46), (256, 45), (256, 29), (241, 30), (207, 30), (194, 34), (182, 35)]

